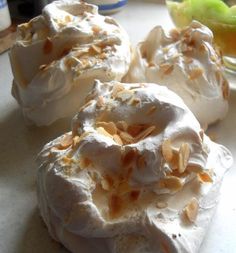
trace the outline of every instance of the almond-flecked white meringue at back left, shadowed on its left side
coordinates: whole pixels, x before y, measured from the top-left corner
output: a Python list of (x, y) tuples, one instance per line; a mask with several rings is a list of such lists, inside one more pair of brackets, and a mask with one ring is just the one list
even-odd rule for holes
[(49, 125), (73, 116), (95, 79), (121, 80), (130, 55), (127, 33), (95, 5), (55, 1), (18, 26), (12, 94), (29, 124)]

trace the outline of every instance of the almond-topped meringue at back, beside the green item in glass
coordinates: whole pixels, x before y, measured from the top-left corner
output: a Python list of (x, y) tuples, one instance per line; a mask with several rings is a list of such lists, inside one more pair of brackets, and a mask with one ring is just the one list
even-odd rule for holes
[(229, 85), (213, 34), (193, 21), (168, 34), (153, 28), (135, 49), (126, 82), (151, 82), (176, 92), (204, 129), (228, 111)]

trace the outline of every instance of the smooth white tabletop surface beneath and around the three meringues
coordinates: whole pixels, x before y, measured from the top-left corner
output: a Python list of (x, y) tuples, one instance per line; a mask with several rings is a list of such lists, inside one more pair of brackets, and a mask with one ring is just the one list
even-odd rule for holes
[[(129, 1), (122, 12), (113, 15), (128, 31), (133, 44), (155, 25), (172, 26), (165, 6), (157, 2)], [(11, 82), (8, 55), (4, 53), (0, 55), (0, 253), (65, 253), (62, 246), (50, 239), (39, 217), (34, 160), (46, 142), (69, 129), (70, 122), (26, 127), (11, 97)], [(236, 90), (231, 92), (227, 117), (211, 127), (210, 132), (232, 151), (236, 161)], [(221, 192), (201, 253), (236, 252), (235, 164), (226, 174)]]

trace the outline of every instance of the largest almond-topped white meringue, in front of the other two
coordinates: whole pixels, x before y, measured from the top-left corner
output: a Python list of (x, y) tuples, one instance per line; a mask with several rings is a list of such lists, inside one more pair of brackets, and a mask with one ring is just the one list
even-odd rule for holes
[(166, 87), (96, 81), (38, 162), (41, 215), (71, 252), (194, 253), (232, 156)]

